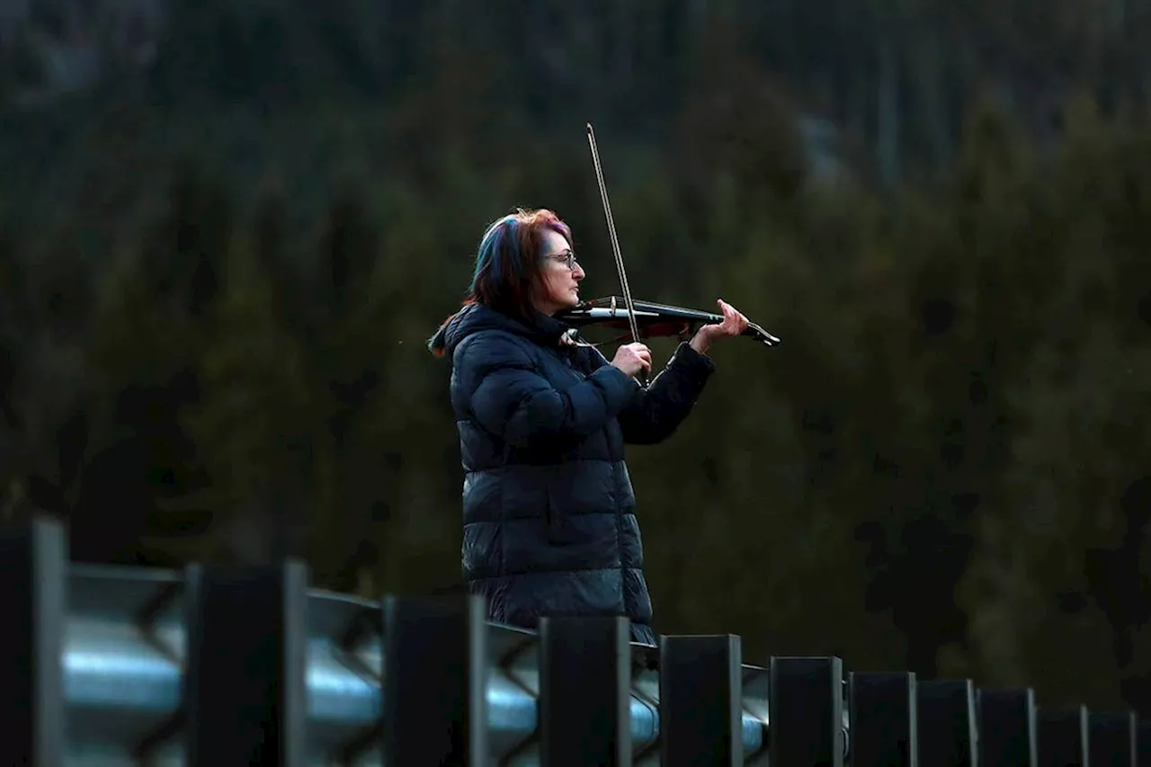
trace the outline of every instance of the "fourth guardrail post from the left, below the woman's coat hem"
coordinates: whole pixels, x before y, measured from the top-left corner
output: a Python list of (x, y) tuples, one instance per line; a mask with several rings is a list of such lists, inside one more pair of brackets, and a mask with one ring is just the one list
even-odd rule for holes
[(626, 617), (540, 620), (541, 767), (632, 764)]

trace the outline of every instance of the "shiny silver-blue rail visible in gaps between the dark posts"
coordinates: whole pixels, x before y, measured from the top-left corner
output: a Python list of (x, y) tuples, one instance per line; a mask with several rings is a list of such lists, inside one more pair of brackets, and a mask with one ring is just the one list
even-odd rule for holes
[[(135, 765), (144, 755), (184, 764), (178, 738), (166, 737), (177, 735), (180, 728), (189, 663), (184, 584), (183, 575), (171, 572), (70, 569), (62, 658), (67, 755), (73, 764), (94, 765), (98, 759), (101, 765)], [(305, 612), (306, 761), (379, 765), (380, 605), (313, 590)], [(486, 629), (493, 759), (496, 764), (538, 764), (532, 741), (540, 697), (539, 636), (490, 623)], [(631, 736), (633, 749), (642, 753), (658, 735), (657, 660), (653, 648), (628, 650), (637, 671), (627, 701)], [(747, 753), (764, 747), (765, 706), (762, 694), (748, 692), (740, 731)]]

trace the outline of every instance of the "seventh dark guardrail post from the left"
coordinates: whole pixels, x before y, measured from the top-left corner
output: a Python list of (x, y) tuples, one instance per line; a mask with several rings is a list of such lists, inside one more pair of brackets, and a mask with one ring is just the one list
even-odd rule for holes
[(848, 677), (852, 767), (916, 767), (915, 675)]

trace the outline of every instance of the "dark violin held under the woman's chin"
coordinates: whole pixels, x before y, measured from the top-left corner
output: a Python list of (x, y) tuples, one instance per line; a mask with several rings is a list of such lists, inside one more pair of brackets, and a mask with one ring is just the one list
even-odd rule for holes
[[(576, 328), (610, 327), (628, 331), (634, 340), (656, 337), (686, 339), (701, 325), (719, 325), (722, 314), (712, 314), (696, 309), (669, 306), (649, 301), (628, 302), (619, 296), (605, 296), (581, 301), (579, 305), (556, 314), (556, 319)], [(633, 322), (634, 320), (634, 322)], [(779, 339), (764, 331), (755, 322), (748, 322), (741, 335), (755, 339), (767, 347), (779, 344)], [(627, 337), (627, 336), (623, 336)]]

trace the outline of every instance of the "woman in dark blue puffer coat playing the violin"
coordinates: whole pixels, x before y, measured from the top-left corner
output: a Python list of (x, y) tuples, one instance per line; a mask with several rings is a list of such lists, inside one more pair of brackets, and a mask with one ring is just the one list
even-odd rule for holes
[(626, 615), (633, 640), (655, 644), (624, 445), (671, 436), (715, 370), (711, 342), (747, 319), (721, 301), (723, 324), (681, 343), (645, 390), (646, 345), (609, 363), (556, 319), (584, 276), (555, 213), (517, 211), (483, 234), (464, 307), (428, 342), (452, 363), (464, 577), (493, 621)]

